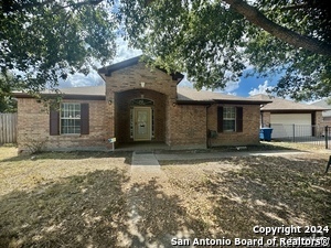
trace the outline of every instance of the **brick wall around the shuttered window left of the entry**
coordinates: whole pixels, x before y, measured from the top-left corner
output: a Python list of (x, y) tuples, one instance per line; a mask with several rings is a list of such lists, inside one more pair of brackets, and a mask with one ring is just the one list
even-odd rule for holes
[(107, 106), (104, 100), (64, 100), (64, 103), (87, 103), (89, 105), (89, 134), (50, 136), (49, 108), (33, 98), (19, 98), (19, 151), (26, 150), (26, 143), (32, 142), (43, 142), (44, 150), (110, 148), (107, 141), (109, 127), (105, 118)]

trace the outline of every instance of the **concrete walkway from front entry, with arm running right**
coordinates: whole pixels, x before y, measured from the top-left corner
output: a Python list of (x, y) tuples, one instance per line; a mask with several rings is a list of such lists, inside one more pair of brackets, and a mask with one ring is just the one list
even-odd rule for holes
[[(149, 237), (153, 234), (149, 234), (148, 229), (141, 229), (141, 223), (146, 213), (141, 209), (143, 206), (145, 187), (151, 181), (156, 181), (157, 184), (162, 182), (162, 187), (167, 188), (168, 177), (161, 170), (159, 160), (200, 160), (200, 159), (221, 159), (231, 157), (250, 157), (250, 155), (292, 155), (302, 154), (305, 152), (293, 151), (234, 151), (234, 152), (152, 152), (152, 151), (135, 151), (132, 152), (130, 181), (128, 184), (128, 234), (118, 237), (122, 247), (136, 247), (136, 248), (170, 248), (178, 247), (171, 246), (172, 235), (164, 234), (164, 236), (154, 242), (149, 241)], [(170, 185), (169, 185), (170, 187)], [(143, 225), (142, 225), (143, 226)], [(185, 237), (190, 237), (190, 234), (185, 234)], [(188, 247), (188, 246), (183, 246)], [(191, 246), (190, 246), (191, 247)]]

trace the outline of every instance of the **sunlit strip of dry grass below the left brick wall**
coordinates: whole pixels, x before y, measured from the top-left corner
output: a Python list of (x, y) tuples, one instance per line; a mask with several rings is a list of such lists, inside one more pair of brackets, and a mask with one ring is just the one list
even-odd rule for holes
[(0, 195), (15, 190), (29, 191), (40, 184), (96, 170), (127, 169), (130, 153), (116, 153), (116, 157), (106, 152), (46, 152), (18, 157), (15, 148), (4, 147), (0, 149)]

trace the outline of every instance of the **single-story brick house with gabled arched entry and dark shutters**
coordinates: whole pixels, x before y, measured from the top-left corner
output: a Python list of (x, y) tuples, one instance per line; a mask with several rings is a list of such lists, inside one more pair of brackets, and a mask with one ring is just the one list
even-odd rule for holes
[(17, 93), (19, 149), (32, 141), (45, 150), (109, 149), (114, 137), (118, 147), (146, 141), (171, 149), (259, 142), (259, 106), (269, 99), (180, 88), (182, 74), (148, 68), (139, 57), (98, 73), (105, 86), (62, 89), (58, 108)]

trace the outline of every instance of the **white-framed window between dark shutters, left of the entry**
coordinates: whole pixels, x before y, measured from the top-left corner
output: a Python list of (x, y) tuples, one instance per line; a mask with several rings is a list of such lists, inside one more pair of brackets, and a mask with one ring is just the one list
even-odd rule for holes
[(61, 105), (61, 134), (81, 134), (81, 104)]

